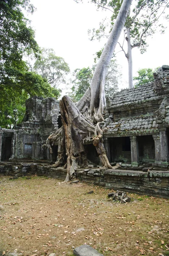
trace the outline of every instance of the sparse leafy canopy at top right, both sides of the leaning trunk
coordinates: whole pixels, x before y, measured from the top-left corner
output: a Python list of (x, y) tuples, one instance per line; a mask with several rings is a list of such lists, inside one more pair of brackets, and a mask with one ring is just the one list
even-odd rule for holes
[[(91, 2), (96, 4), (95, 0)], [(109, 9), (113, 11), (109, 28), (111, 31), (115, 19), (118, 15), (119, 9), (122, 4), (122, 0), (98, 0), (97, 6), (102, 9)], [(163, 16), (168, 19), (165, 15), (166, 8), (169, 8), (168, 0), (135, 0), (131, 6), (130, 15), (128, 15), (124, 30), (130, 29), (130, 40), (132, 47), (140, 48), (141, 53), (146, 51), (148, 46), (146, 38), (153, 35), (160, 28), (161, 33), (165, 31), (165, 27), (162, 23), (159, 23), (159, 17)], [(99, 23), (99, 29), (93, 29), (91, 40), (94, 38), (100, 40), (101, 37), (106, 35), (105, 20)], [(91, 30), (89, 30), (89, 34)]]

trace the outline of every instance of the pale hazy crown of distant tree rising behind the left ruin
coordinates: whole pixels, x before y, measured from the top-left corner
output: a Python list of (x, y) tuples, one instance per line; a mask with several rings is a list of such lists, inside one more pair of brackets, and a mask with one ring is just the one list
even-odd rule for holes
[(68, 64), (55, 55), (54, 49), (42, 48), (40, 58), (35, 61), (34, 71), (41, 75), (53, 87), (65, 83), (65, 75), (70, 72)]

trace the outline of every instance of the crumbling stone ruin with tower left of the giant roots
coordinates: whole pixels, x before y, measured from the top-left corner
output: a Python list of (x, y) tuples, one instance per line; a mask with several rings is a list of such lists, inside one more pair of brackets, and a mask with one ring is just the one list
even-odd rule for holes
[(54, 98), (33, 97), (26, 101), (23, 122), (15, 130), (0, 129), (2, 160), (56, 160), (57, 147), (50, 155), (43, 144), (52, 131), (62, 126), (59, 102)]

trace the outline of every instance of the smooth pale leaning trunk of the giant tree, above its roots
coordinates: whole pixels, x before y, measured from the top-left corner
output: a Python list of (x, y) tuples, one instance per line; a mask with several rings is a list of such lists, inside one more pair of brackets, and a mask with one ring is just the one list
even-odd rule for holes
[[(103, 118), (103, 109), (105, 106), (105, 94), (104, 94), (104, 81), (107, 72), (107, 67), (112, 58), (115, 50), (118, 38), (124, 27), (125, 20), (127, 18), (128, 11), (130, 9), (132, 0), (124, 0), (121, 9), (118, 13), (117, 19), (115, 20), (113, 29), (109, 35), (107, 44), (101, 54), (99, 62), (96, 66), (93, 78), (90, 84), (90, 88), (86, 91), (85, 95), (80, 99), (77, 104), (77, 108), (81, 113), (87, 113), (87, 118), (94, 122), (101, 122)], [(90, 90), (90, 92), (89, 92)], [(84, 105), (84, 103), (86, 104)]]

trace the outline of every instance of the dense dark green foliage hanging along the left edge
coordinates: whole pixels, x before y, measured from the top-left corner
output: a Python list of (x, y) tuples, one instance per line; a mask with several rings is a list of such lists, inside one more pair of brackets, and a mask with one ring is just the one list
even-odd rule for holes
[(20, 122), (29, 96), (59, 96), (42, 76), (28, 71), (24, 54), (40, 51), (23, 9), (34, 12), (30, 0), (0, 1), (0, 125), (11, 128)]

